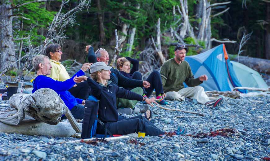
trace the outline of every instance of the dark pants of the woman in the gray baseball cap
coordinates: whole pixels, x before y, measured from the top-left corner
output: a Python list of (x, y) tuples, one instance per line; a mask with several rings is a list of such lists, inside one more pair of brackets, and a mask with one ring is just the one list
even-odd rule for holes
[[(119, 117), (119, 116), (118, 116)], [(117, 122), (108, 122), (106, 127), (112, 134), (127, 135), (130, 133), (145, 132), (145, 136), (159, 136), (164, 132), (149, 122), (144, 116), (137, 115), (134, 117), (119, 120)], [(105, 134), (105, 129), (98, 124), (97, 133)]]

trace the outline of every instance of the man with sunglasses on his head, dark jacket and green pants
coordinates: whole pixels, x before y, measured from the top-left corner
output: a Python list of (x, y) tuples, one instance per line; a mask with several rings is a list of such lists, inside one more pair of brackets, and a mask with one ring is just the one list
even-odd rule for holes
[[(108, 65), (110, 58), (109, 58), (108, 52), (105, 49), (100, 48), (94, 53), (94, 48), (92, 46), (86, 46), (85, 51), (88, 52), (89, 63), (105, 62)], [(110, 81), (112, 81), (112, 83), (114, 83), (115, 85), (117, 85), (119, 87), (123, 87), (125, 89), (126, 88), (133, 88), (131, 91), (134, 93), (140, 94), (140, 95), (143, 95), (143, 89), (140, 87), (144, 87), (144, 88), (150, 87), (150, 83), (147, 81), (130, 79), (130, 78), (120, 74), (119, 71), (117, 69), (114, 69), (114, 68), (111, 68), (110, 71), (111, 71)], [(118, 98), (118, 102), (119, 102), (119, 104), (117, 107), (129, 107), (129, 108), (132, 108), (134, 110), (133, 112), (135, 112), (135, 104), (138, 101), (127, 100), (124, 98)], [(147, 107), (147, 108), (149, 108), (149, 107)], [(145, 110), (147, 110), (147, 109), (145, 109)], [(125, 108), (125, 109), (119, 108), (118, 112), (131, 114), (132, 111), (128, 112), (128, 108)]]

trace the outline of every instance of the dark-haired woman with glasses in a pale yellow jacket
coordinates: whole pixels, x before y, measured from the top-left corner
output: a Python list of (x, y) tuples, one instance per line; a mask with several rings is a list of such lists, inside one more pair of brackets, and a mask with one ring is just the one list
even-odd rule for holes
[[(50, 63), (52, 65), (51, 74), (48, 75), (48, 77), (57, 81), (70, 79), (68, 72), (60, 62), (62, 54), (61, 46), (59, 44), (50, 44), (46, 48), (46, 55), (50, 58)], [(69, 92), (75, 98), (86, 99), (89, 96), (89, 85), (86, 81), (77, 83), (69, 90)]]

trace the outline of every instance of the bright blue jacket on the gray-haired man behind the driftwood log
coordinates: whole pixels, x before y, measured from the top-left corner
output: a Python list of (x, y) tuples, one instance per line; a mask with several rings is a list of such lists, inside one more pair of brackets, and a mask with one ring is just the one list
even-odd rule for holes
[(38, 75), (33, 82), (34, 89), (32, 90), (32, 93), (41, 88), (50, 88), (61, 97), (61, 99), (65, 102), (65, 105), (71, 110), (77, 104), (81, 104), (83, 100), (75, 98), (67, 90), (69, 90), (71, 87), (73, 87), (73, 85), (76, 84), (73, 81), (73, 78), (75, 76), (83, 75), (84, 72), (82, 70), (79, 70), (73, 77), (66, 81), (56, 81), (45, 75)]

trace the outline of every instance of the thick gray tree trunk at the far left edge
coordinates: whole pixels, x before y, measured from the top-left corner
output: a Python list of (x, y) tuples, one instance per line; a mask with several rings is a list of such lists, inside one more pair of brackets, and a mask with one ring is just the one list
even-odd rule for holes
[[(7, 2), (2, 2), (0, 5), (0, 72), (3, 72), (11, 63), (16, 61), (13, 35), (12, 35), (12, 9), (9, 10), (11, 5)], [(16, 63), (13, 64), (17, 66)]]

